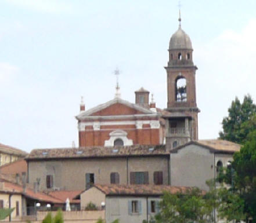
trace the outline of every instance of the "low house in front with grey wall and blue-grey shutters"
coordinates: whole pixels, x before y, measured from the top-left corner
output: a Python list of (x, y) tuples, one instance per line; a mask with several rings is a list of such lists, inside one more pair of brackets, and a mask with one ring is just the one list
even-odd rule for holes
[(159, 212), (163, 192), (186, 193), (188, 187), (168, 185), (94, 185), (80, 195), (81, 209), (93, 202), (105, 209), (106, 222), (149, 222)]

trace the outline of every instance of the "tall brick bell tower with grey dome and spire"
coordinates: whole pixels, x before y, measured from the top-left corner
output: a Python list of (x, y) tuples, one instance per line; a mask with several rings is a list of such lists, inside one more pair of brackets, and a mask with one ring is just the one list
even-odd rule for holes
[(166, 144), (169, 149), (198, 140), (196, 70), (189, 36), (181, 28), (171, 36), (167, 71)]

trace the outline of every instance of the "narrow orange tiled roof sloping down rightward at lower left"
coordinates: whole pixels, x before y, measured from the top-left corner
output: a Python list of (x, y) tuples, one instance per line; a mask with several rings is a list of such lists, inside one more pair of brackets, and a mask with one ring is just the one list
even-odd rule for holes
[(64, 203), (62, 200), (53, 198), (52, 196), (47, 195), (46, 193), (42, 193), (42, 192), (35, 193), (34, 190), (31, 188), (26, 188), (26, 191), (24, 192), (23, 186), (19, 184), (14, 184), (13, 182), (4, 181), (3, 184), (4, 184), (3, 189), (5, 189), (5, 191), (21, 193), (24, 196), (27, 196), (28, 198), (39, 200), (41, 202), (59, 203), (59, 204)]

